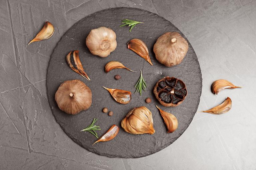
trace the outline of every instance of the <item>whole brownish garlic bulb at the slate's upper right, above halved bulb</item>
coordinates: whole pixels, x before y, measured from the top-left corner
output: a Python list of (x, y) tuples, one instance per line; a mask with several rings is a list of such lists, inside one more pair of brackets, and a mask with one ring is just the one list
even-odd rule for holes
[(167, 67), (181, 63), (188, 51), (188, 42), (177, 32), (167, 32), (154, 44), (156, 59)]

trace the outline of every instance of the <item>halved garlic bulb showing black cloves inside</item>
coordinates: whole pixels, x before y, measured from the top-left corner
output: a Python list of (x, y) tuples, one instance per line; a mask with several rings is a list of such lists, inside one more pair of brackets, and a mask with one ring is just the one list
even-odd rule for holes
[(161, 105), (174, 107), (180, 105), (185, 100), (187, 88), (183, 81), (167, 76), (156, 83), (154, 94)]

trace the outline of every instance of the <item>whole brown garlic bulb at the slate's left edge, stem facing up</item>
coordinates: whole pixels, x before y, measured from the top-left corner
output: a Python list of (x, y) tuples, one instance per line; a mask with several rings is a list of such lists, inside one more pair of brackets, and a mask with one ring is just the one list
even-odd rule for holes
[(60, 110), (75, 115), (91, 106), (92, 92), (80, 80), (67, 80), (59, 86), (55, 100)]

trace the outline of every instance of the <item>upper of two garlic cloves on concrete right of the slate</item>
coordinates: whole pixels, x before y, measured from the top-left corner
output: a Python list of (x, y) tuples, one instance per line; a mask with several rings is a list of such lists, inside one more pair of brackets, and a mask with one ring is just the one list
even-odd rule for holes
[(223, 79), (216, 80), (212, 83), (212, 92), (214, 94), (218, 94), (221, 90), (224, 90), (224, 89), (234, 89), (234, 88), (242, 88), (242, 87), (235, 86), (228, 80), (223, 80)]

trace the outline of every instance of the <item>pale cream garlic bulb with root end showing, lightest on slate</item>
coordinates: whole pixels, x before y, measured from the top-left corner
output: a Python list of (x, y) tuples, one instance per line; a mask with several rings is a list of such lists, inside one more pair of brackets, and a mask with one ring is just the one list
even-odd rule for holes
[(93, 55), (107, 57), (116, 49), (116, 33), (106, 27), (93, 29), (86, 38), (86, 45)]

